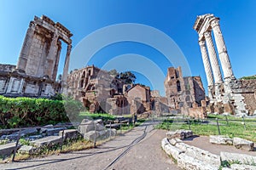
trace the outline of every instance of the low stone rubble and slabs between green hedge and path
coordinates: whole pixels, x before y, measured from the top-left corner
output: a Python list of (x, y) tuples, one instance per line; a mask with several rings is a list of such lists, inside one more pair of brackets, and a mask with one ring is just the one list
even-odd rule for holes
[[(62, 139), (63, 133), (63, 139)], [(67, 127), (54, 127), (47, 125), (41, 128), (27, 128), (25, 130), (15, 131), (9, 134), (3, 134), (0, 141), (0, 156), (9, 156), (15, 151), (16, 139), (25, 139), (31, 145), (18, 144), (17, 151), (20, 153), (33, 154), (43, 148), (55, 144), (61, 144), (67, 139), (78, 139), (79, 132), (76, 129), (67, 129)]]

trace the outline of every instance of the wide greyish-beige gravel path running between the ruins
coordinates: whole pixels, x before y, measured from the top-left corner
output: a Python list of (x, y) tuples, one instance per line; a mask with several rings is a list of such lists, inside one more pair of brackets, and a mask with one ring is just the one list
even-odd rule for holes
[(166, 131), (153, 130), (153, 123), (148, 122), (96, 149), (2, 164), (0, 169), (179, 169), (160, 148), (165, 136)]

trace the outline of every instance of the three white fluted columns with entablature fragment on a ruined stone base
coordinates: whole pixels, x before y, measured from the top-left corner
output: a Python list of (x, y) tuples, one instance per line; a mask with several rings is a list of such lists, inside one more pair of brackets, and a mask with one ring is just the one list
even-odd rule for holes
[(213, 14), (197, 16), (194, 29), (199, 35), (201, 56), (207, 75), (211, 111), (236, 115), (253, 114), (256, 101), (256, 82), (255, 80), (237, 80), (234, 76), (230, 57), (219, 26), (219, 18)]

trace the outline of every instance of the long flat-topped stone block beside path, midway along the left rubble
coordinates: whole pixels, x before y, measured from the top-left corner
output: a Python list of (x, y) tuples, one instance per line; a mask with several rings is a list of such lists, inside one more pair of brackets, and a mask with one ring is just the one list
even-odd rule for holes
[(61, 144), (61, 136), (48, 136), (43, 139), (34, 140), (31, 143), (38, 148), (44, 146), (50, 147), (54, 144)]

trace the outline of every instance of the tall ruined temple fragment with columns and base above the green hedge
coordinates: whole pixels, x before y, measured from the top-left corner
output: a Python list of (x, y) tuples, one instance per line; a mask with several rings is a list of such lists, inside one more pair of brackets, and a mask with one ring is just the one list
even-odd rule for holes
[[(30, 22), (17, 65), (0, 65), (0, 94), (49, 97), (66, 86), (73, 35), (46, 16)], [(56, 82), (61, 41), (67, 43), (62, 84)], [(61, 88), (62, 87), (62, 88)]]

